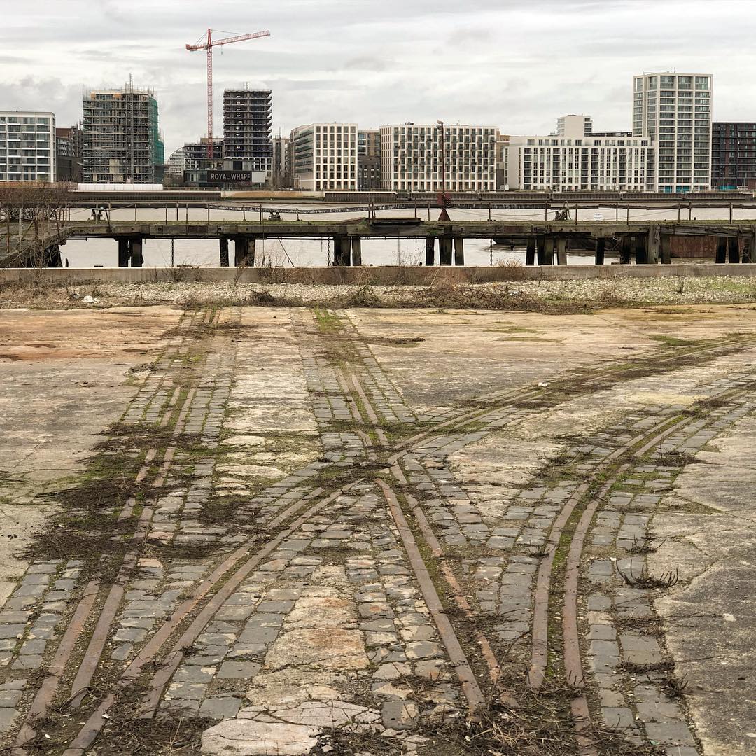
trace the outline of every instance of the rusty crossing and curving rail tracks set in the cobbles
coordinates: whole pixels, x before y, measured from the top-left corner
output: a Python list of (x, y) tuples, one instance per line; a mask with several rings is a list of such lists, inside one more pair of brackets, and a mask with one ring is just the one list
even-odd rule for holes
[[(492, 392), (476, 398), (464, 410), (426, 419), (404, 404), (401, 392), (381, 372), (370, 349), (358, 341), (357, 330), (348, 319), (333, 316), (330, 331), (324, 334), (314, 320), (302, 319), (295, 313), (293, 322), (303, 360), (310, 361), (314, 373), (323, 376), (321, 388), (330, 386), (324, 393), (331, 404), (341, 403), (339, 407), (343, 407), (349, 422), (339, 422), (354, 431), (364, 460), (355, 457), (351, 466), (344, 461), (326, 466), (326, 470), (339, 473), (328, 483), (324, 483), (322, 468), (319, 476), (310, 475), (310, 482), (303, 473), (299, 495), (278, 497), (268, 505), (259, 516), (262, 529), (222, 556), (212, 572), (191, 587), (169, 616), (153, 627), (146, 643), (124, 670), (113, 677), (112, 671), (103, 665), (104, 649), (122, 609), (124, 594), (129, 590), (129, 581), (139, 559), (148, 551), (147, 535), (155, 498), (175, 465), (178, 441), (187, 432), (187, 419), (197, 397), (197, 388), (191, 385), (193, 376), (187, 373), (183, 383), (178, 378), (176, 383), (173, 378), (178, 373), (172, 373), (166, 366), (193, 348), (193, 339), (197, 341), (197, 333), (203, 333), (203, 328), (212, 331), (217, 327), (219, 316), (218, 311), (186, 314), (181, 327), (183, 335), (175, 339), (158, 361), (156, 373), (160, 376), (150, 390), (153, 397), (163, 397), (158, 402), (158, 426), (170, 433), (164, 446), (150, 445), (144, 450), (135, 475), (135, 483), (147, 486), (153, 493), (139, 503), (134, 497), (127, 498), (116, 512), (119, 521), (133, 524), (128, 548), (115, 569), (110, 565), (115, 575), (111, 581), (101, 584), (92, 578), (82, 588), (66, 631), (46, 668), (47, 676), (26, 710), (14, 740), (14, 754), (32, 752), (29, 748), (39, 735), (37, 723), (53, 705), (80, 711), (79, 717), (85, 717), (78, 729), (69, 725), (64, 731), (64, 756), (83, 756), (107, 729), (108, 712), (132, 700), (134, 690), (139, 691), (138, 716), (155, 717), (166, 686), (187, 652), (216, 620), (234, 591), (282, 544), (301, 534), (303, 526), (311, 525), (339, 497), (360, 485), (376, 486), (386, 501), (386, 511), (398, 533), (412, 578), (422, 593), (445, 657), (466, 699), (467, 713), (475, 716), (489, 707), (494, 691), (497, 704), (519, 706), (522, 690), (509, 684), (511, 676), (503, 674), (504, 668), (516, 666), (516, 662), (505, 658), (501, 644), (491, 637), (485, 625), (475, 627), (482, 614), (479, 602), (468, 590), (469, 577), (459, 572), (454, 545), (445, 543), (428, 514), (426, 496), (414, 483), (411, 466), (425, 457), (443, 461), (448, 457), (445, 450), (460, 448), (460, 444), (475, 442), (514, 421), (549, 411), (565, 398), (590, 395), (609, 383), (634, 380), (641, 373), (660, 374), (673, 372), (685, 364), (702, 364), (748, 349), (756, 342), (753, 336), (730, 336), (716, 344), (675, 349), (665, 358), (643, 355), (630, 364), (608, 361), (583, 375), (553, 376), (547, 387)], [(337, 362), (324, 351), (324, 342), (334, 331), (339, 336)], [(740, 405), (747, 401), (753, 379), (744, 370), (742, 376), (733, 380), (738, 384), (735, 388), (721, 389), (717, 383), (701, 386), (699, 393), (716, 400), (719, 411), (723, 406)], [(150, 403), (144, 406), (149, 407)], [(590, 674), (581, 652), (581, 571), (585, 567), (586, 539), (596, 513), (606, 506), (612, 487), (627, 478), (635, 467), (647, 463), (668, 438), (684, 432), (701, 417), (708, 420), (707, 407), (702, 405), (699, 410), (696, 415), (681, 413), (679, 408), (655, 408), (648, 413), (652, 419), (650, 425), (646, 423), (640, 432), (632, 432), (630, 438), (613, 447), (600, 448), (590, 456), (587, 459), (590, 472), (561, 503), (538, 556), (531, 627), (523, 634), (528, 637), (530, 649), (527, 683), (531, 690), (538, 691), (550, 678), (565, 680), (571, 690), (569, 706), (574, 716), (575, 742), (584, 753), (603, 752), (593, 736), (601, 725), (596, 722)], [(134, 410), (127, 411), (127, 416), (129, 413), (135, 416)], [(321, 429), (329, 429), (333, 424), (333, 418), (321, 420)], [(407, 426), (412, 424), (424, 427), (406, 438)], [(572, 454), (575, 458), (579, 456), (576, 451)], [(463, 618), (463, 624), (459, 617)], [(555, 637), (555, 621), (561, 626), (561, 637)], [(471, 626), (474, 629), (469, 633)], [(82, 650), (78, 663), (74, 662), (76, 648)], [(557, 660), (555, 648), (561, 651), (562, 662)], [(101, 686), (93, 685), (98, 676), (110, 680), (110, 689), (102, 695), (98, 694)]]

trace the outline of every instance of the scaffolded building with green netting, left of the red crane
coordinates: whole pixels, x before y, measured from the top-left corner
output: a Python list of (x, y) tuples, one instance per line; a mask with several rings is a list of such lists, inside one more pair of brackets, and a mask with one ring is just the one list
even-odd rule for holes
[(132, 84), (83, 98), (82, 172), (88, 184), (155, 184), (165, 155), (151, 90)]

